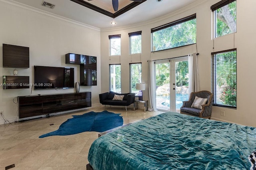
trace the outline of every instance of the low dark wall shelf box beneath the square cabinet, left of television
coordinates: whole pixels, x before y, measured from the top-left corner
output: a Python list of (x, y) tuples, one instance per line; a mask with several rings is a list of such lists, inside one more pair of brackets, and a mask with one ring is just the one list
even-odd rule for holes
[(3, 89), (30, 88), (29, 76), (3, 76)]

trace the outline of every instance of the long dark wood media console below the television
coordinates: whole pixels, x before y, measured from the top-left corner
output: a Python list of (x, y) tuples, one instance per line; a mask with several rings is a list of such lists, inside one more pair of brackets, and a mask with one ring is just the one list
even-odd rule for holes
[(18, 96), (19, 118), (91, 106), (91, 92)]

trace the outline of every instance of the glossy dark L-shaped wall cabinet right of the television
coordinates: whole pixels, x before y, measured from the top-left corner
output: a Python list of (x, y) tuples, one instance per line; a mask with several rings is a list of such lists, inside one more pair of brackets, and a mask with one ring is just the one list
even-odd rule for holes
[(97, 57), (68, 53), (66, 64), (80, 65), (80, 86), (97, 86)]

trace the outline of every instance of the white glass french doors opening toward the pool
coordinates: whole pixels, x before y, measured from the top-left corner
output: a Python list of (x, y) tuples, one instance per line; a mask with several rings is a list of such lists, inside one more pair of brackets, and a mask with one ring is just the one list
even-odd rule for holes
[(188, 57), (155, 62), (156, 109), (180, 112), (188, 100)]

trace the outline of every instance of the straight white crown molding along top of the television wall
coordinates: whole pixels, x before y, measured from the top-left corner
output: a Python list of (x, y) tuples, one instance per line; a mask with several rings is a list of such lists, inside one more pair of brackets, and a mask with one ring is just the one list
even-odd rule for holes
[(44, 10), (40, 10), (38, 8), (34, 8), (32, 6), (28, 6), (26, 4), (22, 4), (20, 2), (16, 2), (16, 1), (13, 1), (13, 0), (0, 0), (0, 2), (4, 2), (6, 4), (17, 6), (17, 7), (20, 7), (20, 8), (26, 9), (26, 10), (30, 10), (30, 11), (33, 11), (33, 12), (37, 12), (39, 14), (46, 15), (46, 16), (49, 16), (49, 17), (52, 17), (52, 18), (56, 18), (58, 20), (66, 21), (66, 22), (69, 22), (69, 23), (72, 23), (72, 24), (75, 24), (75, 25), (79, 25), (79, 26), (82, 26), (82, 27), (93, 29), (95, 31), (100, 31), (100, 28), (98, 28), (98, 27), (94, 27), (92, 25), (88, 25), (88, 24), (85, 24), (85, 23), (82, 23), (82, 22), (71, 20), (69, 18), (53, 14), (51, 12), (47, 12), (47, 11), (44, 11)]

